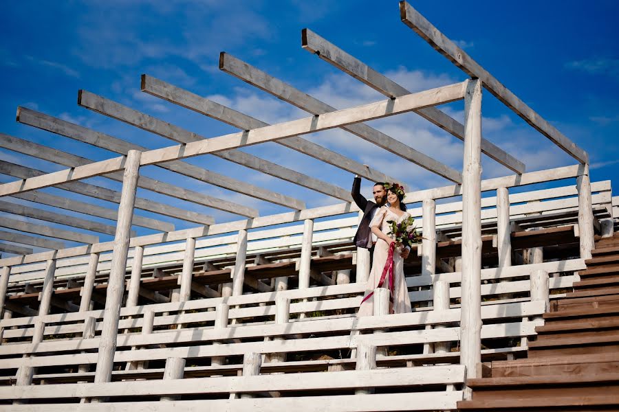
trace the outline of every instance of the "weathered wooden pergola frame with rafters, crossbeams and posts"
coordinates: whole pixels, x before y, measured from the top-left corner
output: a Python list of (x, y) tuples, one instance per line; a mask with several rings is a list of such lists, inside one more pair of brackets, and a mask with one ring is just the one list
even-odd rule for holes
[[(254, 119), (231, 108), (227, 108), (221, 104), (212, 102), (206, 98), (202, 98), (189, 91), (175, 87), (172, 84), (167, 84), (161, 80), (152, 78), (151, 76), (142, 76), (142, 91), (155, 95), (174, 104), (184, 106), (197, 113), (219, 119), (242, 131), (239, 133), (231, 133), (221, 135), (219, 137), (211, 137), (206, 139), (196, 133), (191, 133), (173, 124), (169, 124), (160, 119), (156, 119), (150, 115), (140, 113), (132, 108), (112, 102), (111, 100), (94, 95), (87, 91), (80, 91), (78, 104), (92, 111), (102, 113), (109, 117), (113, 117), (132, 126), (142, 128), (150, 133), (166, 137), (176, 141), (178, 144), (166, 148), (148, 150), (146, 148), (136, 146), (127, 141), (123, 141), (116, 137), (90, 130), (77, 124), (72, 124), (61, 119), (56, 119), (43, 113), (37, 113), (28, 108), (20, 107), (18, 109), (17, 119), (23, 124), (28, 124), (36, 128), (63, 135), (78, 141), (83, 141), (87, 144), (105, 148), (120, 154), (118, 157), (113, 157), (105, 161), (91, 161), (84, 157), (78, 157), (66, 152), (46, 148), (39, 144), (34, 144), (29, 141), (24, 141), (16, 137), (8, 135), (0, 135), (0, 147), (21, 152), (32, 157), (39, 157), (54, 163), (58, 163), (67, 167), (65, 170), (58, 172), (45, 173), (31, 168), (25, 168), (21, 165), (13, 165), (8, 162), (0, 163), (0, 170), (5, 174), (11, 174), (19, 178), (17, 181), (0, 185), (0, 196), (14, 196), (28, 201), (39, 202), (54, 207), (61, 207), (72, 211), (80, 211), (91, 216), (111, 218), (118, 220), (118, 225), (115, 229), (115, 238), (113, 243), (99, 244), (96, 236), (85, 235), (84, 233), (74, 233), (61, 229), (50, 231), (49, 227), (41, 225), (33, 225), (27, 222), (13, 221), (8, 218), (0, 219), (0, 226), (10, 227), (17, 231), (27, 233), (40, 233), (52, 238), (61, 238), (65, 240), (73, 240), (87, 244), (87, 247), (78, 247), (74, 249), (61, 249), (59, 242), (42, 240), (40, 238), (32, 238), (16, 233), (2, 232), (3, 240), (12, 240), (14, 242), (22, 242), (31, 244), (32, 246), (57, 249), (49, 252), (46, 266), (46, 279), (54, 277), (55, 262), (57, 258), (70, 256), (75, 254), (91, 253), (91, 264), (89, 271), (96, 271), (98, 261), (98, 251), (113, 250), (113, 258), (111, 263), (111, 272), (109, 274), (109, 287), (107, 288), (106, 297), (106, 314), (104, 319), (102, 338), (99, 347), (99, 358), (96, 369), (95, 382), (109, 382), (111, 378), (111, 367), (113, 365), (113, 354), (116, 347), (116, 335), (118, 331), (118, 321), (120, 314), (120, 301), (124, 292), (124, 277), (127, 266), (127, 255), (130, 244), (137, 248), (140, 247), (143, 253), (143, 247), (140, 244), (148, 244), (141, 241), (142, 238), (132, 238), (131, 225), (149, 227), (162, 231), (161, 234), (146, 236), (150, 240), (162, 239), (178, 239), (186, 240), (187, 255), (191, 255), (191, 251), (195, 248), (195, 238), (214, 233), (227, 233), (230, 231), (239, 231), (239, 244), (247, 243), (247, 229), (252, 227), (260, 227), (261, 225), (273, 225), (280, 221), (292, 221), (304, 219), (304, 233), (310, 233), (307, 236), (309, 246), (305, 243), (303, 247), (307, 249), (312, 245), (312, 218), (316, 216), (316, 209), (305, 209), (305, 204), (290, 196), (278, 194), (271, 190), (265, 190), (248, 183), (231, 179), (228, 176), (221, 176), (202, 168), (197, 168), (194, 165), (184, 163), (184, 159), (199, 155), (215, 155), (239, 163), (248, 168), (258, 170), (259, 172), (267, 173), (285, 181), (296, 183), (297, 185), (306, 187), (316, 192), (321, 192), (338, 198), (347, 203), (343, 205), (335, 205), (333, 207), (324, 208), (333, 211), (333, 213), (345, 213), (354, 211), (356, 208), (351, 205), (350, 195), (347, 190), (337, 187), (331, 183), (319, 181), (312, 176), (307, 176), (301, 172), (284, 168), (272, 162), (266, 161), (253, 155), (248, 155), (246, 152), (241, 152), (238, 149), (255, 144), (275, 141), (283, 146), (292, 148), (305, 155), (314, 157), (330, 165), (334, 165), (342, 170), (354, 172), (366, 179), (374, 181), (391, 181), (393, 180), (388, 174), (384, 174), (377, 170), (367, 168), (360, 165), (358, 162), (347, 159), (342, 155), (327, 150), (318, 144), (314, 144), (306, 139), (303, 135), (316, 133), (321, 130), (329, 130), (332, 128), (343, 128), (349, 133), (352, 133), (362, 139), (370, 141), (376, 146), (389, 152), (394, 153), (411, 163), (420, 165), (435, 174), (448, 179), (456, 185), (435, 188), (415, 192), (409, 196), (409, 202), (423, 202), (424, 216), (433, 216), (435, 210), (435, 198), (443, 196), (462, 196), (463, 207), (463, 225), (462, 225), (462, 297), (461, 297), (461, 363), (466, 366), (467, 377), (474, 378), (476, 374), (476, 365), (480, 361), (480, 345), (481, 345), (481, 191), (488, 190), (488, 187), (497, 189), (497, 198), (499, 203), (503, 205), (508, 196), (508, 187), (514, 183), (521, 183), (524, 179), (535, 179), (536, 173), (543, 176), (543, 179), (561, 179), (561, 172), (533, 172), (524, 174), (525, 165), (501, 150), (495, 144), (490, 143), (481, 137), (481, 95), (482, 89), (490, 91), (501, 102), (506, 104), (514, 113), (525, 119), (536, 130), (539, 130), (542, 135), (550, 139), (562, 150), (565, 150), (569, 155), (574, 157), (580, 163), (575, 166), (578, 168), (578, 196), (580, 199), (579, 208), (579, 226), (580, 226), (580, 256), (581, 258), (590, 258), (590, 251), (593, 248), (594, 236), (592, 229), (592, 212), (591, 212), (591, 187), (589, 181), (589, 168), (587, 153), (578, 148), (576, 144), (569, 141), (567, 137), (561, 134), (554, 126), (546, 122), (541, 116), (532, 111), (532, 109), (517, 98), (514, 93), (506, 89), (496, 78), (481, 67), (473, 58), (470, 58), (466, 52), (457, 47), (455, 43), (450, 41), (444, 34), (439, 32), (436, 27), (431, 25), (424, 17), (419, 14), (406, 1), (400, 2), (400, 14), (402, 21), (411, 27), (417, 34), (422, 36), (432, 47), (437, 49), (441, 54), (449, 58), (455, 65), (460, 67), (470, 79), (450, 84), (445, 87), (439, 87), (418, 93), (409, 93), (406, 89), (396, 84), (389, 78), (382, 76), (380, 73), (371, 69), (360, 60), (350, 56), (343, 50), (338, 49), (325, 39), (314, 34), (310, 30), (303, 30), (303, 47), (308, 51), (317, 54), (323, 60), (331, 63), (335, 67), (342, 69), (345, 73), (354, 76), (361, 82), (376, 89), (380, 93), (387, 96), (387, 100), (381, 100), (371, 104), (356, 106), (352, 108), (343, 108), (336, 110), (327, 104), (312, 98), (301, 91), (298, 91), (281, 80), (256, 69), (241, 60), (222, 53), (219, 60), (220, 69), (227, 73), (244, 80), (263, 91), (267, 91), (276, 97), (302, 108), (311, 115), (303, 119), (297, 119), (290, 122), (269, 125), (259, 119)], [(465, 103), (465, 120), (464, 124), (460, 124), (455, 119), (449, 117), (442, 111), (439, 111), (435, 106), (464, 100)], [(373, 129), (363, 122), (372, 119), (380, 119), (400, 113), (414, 112), (428, 119), (433, 124), (448, 131), (448, 133), (462, 139), (464, 141), (464, 163), (462, 172), (453, 170), (447, 165), (443, 165), (439, 161), (432, 159), (428, 155), (415, 150), (402, 142), (393, 139)], [(510, 170), (517, 174), (513, 176), (505, 176), (498, 179), (490, 179), (489, 181), (481, 181), (481, 153), (505, 165)], [(158, 165), (161, 168), (177, 172), (185, 176), (190, 176), (193, 179), (204, 181), (220, 187), (226, 187), (229, 190), (246, 194), (254, 198), (270, 201), (276, 205), (281, 205), (292, 209), (290, 214), (266, 216), (260, 218), (258, 211), (251, 207), (239, 205), (224, 201), (212, 196), (199, 194), (186, 190), (182, 187), (177, 187), (140, 176), (139, 169), (141, 166)], [(572, 167), (574, 168), (574, 167)], [(573, 176), (573, 170), (570, 169), (570, 176)], [(95, 176), (105, 176), (109, 179), (122, 182), (122, 192), (114, 192), (103, 187), (81, 183), (83, 179), (89, 179)], [(558, 177), (557, 177), (558, 176)], [(38, 192), (45, 187), (59, 187), (63, 190), (87, 194), (95, 198), (105, 199), (118, 203), (118, 213), (112, 209), (103, 207), (95, 207), (86, 203), (78, 203), (75, 201), (63, 201), (58, 196)], [(190, 201), (198, 205), (224, 209), (240, 216), (245, 216), (248, 220), (239, 222), (222, 223), (214, 225), (213, 218), (210, 216), (197, 214), (195, 212), (184, 211), (177, 207), (155, 203), (148, 199), (136, 198), (136, 190), (142, 187), (146, 190), (165, 194), (180, 198), (185, 201)], [(133, 216), (133, 209), (139, 208), (147, 211), (152, 211), (166, 216), (173, 216), (188, 222), (199, 223), (202, 225), (195, 229), (186, 231), (173, 232), (173, 227), (154, 219), (140, 218)], [(62, 225), (71, 225), (89, 231), (98, 231), (100, 233), (110, 233), (111, 227), (107, 225), (95, 224), (88, 220), (77, 220), (70, 218), (73, 221), (69, 222), (68, 216), (54, 214), (48, 211), (42, 211), (32, 207), (14, 205), (12, 203), (1, 202), (0, 209), (9, 211), (10, 213), (21, 214), (32, 218), (43, 219)], [(320, 214), (320, 213), (318, 213)], [(283, 217), (282, 217), (283, 216)], [(326, 215), (325, 215), (326, 216)], [(292, 220), (291, 220), (292, 219)], [(499, 217), (501, 224), (499, 225), (499, 244), (506, 242), (506, 227), (505, 216)], [(509, 221), (509, 215), (507, 215)], [(427, 228), (426, 228), (427, 222)], [(433, 221), (424, 219), (424, 233), (426, 230), (432, 231)], [(503, 233), (501, 233), (501, 228)], [(509, 238), (509, 236), (507, 236)], [(428, 238), (424, 242), (435, 242), (435, 239)], [(142, 242), (142, 243), (141, 243)], [(193, 245), (193, 246), (192, 246)], [(424, 243), (425, 245), (425, 243)], [(26, 255), (32, 253), (31, 249), (14, 247), (12, 245), (3, 245), (4, 251), (12, 253), (24, 253)], [(424, 246), (425, 248), (425, 246)], [(506, 246), (503, 246), (503, 251)], [(75, 253), (75, 254), (74, 254)], [(136, 252), (137, 253), (137, 252)], [(303, 252), (302, 252), (303, 253)], [(307, 251), (305, 252), (307, 255)], [(41, 254), (38, 254), (41, 255)], [(46, 255), (47, 256), (47, 255)], [(41, 260), (40, 257), (32, 259), (35, 262)], [(36, 259), (36, 260), (34, 260)], [(431, 255), (427, 255), (424, 260), (424, 266), (434, 266)], [(10, 258), (1, 260), (3, 271), (0, 286), (0, 292), (6, 294), (6, 286), (9, 281), (10, 266), (13, 264), (21, 264), (28, 262), (29, 257)], [(239, 247), (237, 260), (245, 260), (245, 249)], [(193, 262), (193, 260), (192, 260)], [(361, 262), (358, 260), (358, 263)], [(367, 262), (365, 262), (367, 264)], [(94, 269), (91, 266), (94, 265)], [(232, 274), (232, 295), (242, 293), (243, 286), (243, 265), (235, 265), (235, 271)], [(193, 267), (193, 266), (192, 266)], [(244, 267), (244, 266), (243, 266)], [(8, 270), (7, 270), (8, 268)], [(431, 273), (429, 273), (431, 274)], [(191, 280), (191, 271), (184, 267), (182, 277), (185, 279), (181, 282), (181, 295), (185, 298), (191, 293), (191, 282), (186, 282), (186, 278)], [(299, 275), (299, 285), (309, 285), (309, 266), (301, 268)], [(301, 279), (303, 277), (303, 279)], [(50, 282), (44, 283), (44, 288), (51, 287)], [(43, 296), (47, 296), (45, 291)], [(47, 299), (47, 298), (45, 298)], [(45, 315), (45, 310), (49, 308), (49, 302), (41, 301), (41, 310), (39, 315)]]

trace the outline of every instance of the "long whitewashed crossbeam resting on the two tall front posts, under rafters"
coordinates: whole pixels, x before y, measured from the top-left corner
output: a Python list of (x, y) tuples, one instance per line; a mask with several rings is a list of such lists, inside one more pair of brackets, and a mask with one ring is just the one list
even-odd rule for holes
[[(173, 160), (187, 159), (189, 157), (206, 155), (207, 153), (220, 152), (221, 150), (252, 146), (267, 141), (276, 141), (278, 139), (285, 139), (286, 137), (316, 133), (321, 130), (329, 130), (349, 124), (367, 122), (368, 120), (380, 119), (400, 113), (409, 113), (417, 108), (455, 102), (464, 98), (465, 85), (466, 82), (450, 84), (449, 86), (405, 95), (401, 98), (382, 100), (362, 106), (345, 108), (331, 113), (305, 117), (303, 119), (265, 126), (241, 133), (222, 135), (208, 140), (182, 144), (180, 146), (149, 150), (142, 153), (140, 165), (155, 165)], [(124, 169), (126, 162), (127, 157), (125, 156), (115, 157), (113, 159), (98, 161), (97, 163), (90, 163), (88, 165), (77, 166), (76, 168), (44, 174), (43, 176), (34, 176), (28, 179), (4, 183), (0, 185), (0, 196), (28, 192), (42, 187), (63, 185), (67, 182), (118, 172)]]

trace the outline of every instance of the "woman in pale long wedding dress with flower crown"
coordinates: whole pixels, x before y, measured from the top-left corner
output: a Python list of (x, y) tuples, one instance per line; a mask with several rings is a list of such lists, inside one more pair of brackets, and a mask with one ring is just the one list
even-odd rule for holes
[[(358, 317), (373, 314), (373, 290), (378, 288), (380, 284), (380, 278), (389, 256), (389, 247), (391, 243), (395, 242), (394, 235), (387, 235), (391, 230), (387, 222), (395, 220), (395, 222), (400, 223), (410, 216), (406, 212), (406, 205), (402, 203), (404, 188), (397, 183), (392, 183), (391, 185), (385, 184), (385, 189), (387, 189), (388, 203), (376, 211), (376, 215), (369, 224), (372, 233), (378, 237), (378, 240), (374, 247), (373, 264), (369, 279), (367, 279), (367, 290), (357, 312)], [(409, 255), (409, 251), (408, 247), (405, 249), (402, 245), (395, 244), (393, 251), (393, 291), (389, 305), (389, 312), (391, 313), (411, 312), (411, 299), (409, 299), (409, 291), (404, 279), (404, 259)], [(389, 275), (385, 276), (381, 287), (389, 288)]]

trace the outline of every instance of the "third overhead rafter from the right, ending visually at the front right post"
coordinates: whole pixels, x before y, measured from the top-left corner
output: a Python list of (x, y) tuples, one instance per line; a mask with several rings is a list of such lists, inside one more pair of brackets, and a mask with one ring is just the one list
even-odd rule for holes
[[(336, 108), (313, 98), (307, 93), (294, 89), (290, 84), (248, 65), (248, 63), (234, 56), (230, 56), (230, 54), (222, 52), (219, 55), (219, 69), (314, 115), (336, 111)], [(410, 146), (406, 146), (401, 141), (393, 139), (393, 137), (385, 135), (366, 124), (343, 125), (342, 128), (454, 183), (461, 183), (462, 181), (461, 173), (457, 172), (457, 170), (424, 155)]]

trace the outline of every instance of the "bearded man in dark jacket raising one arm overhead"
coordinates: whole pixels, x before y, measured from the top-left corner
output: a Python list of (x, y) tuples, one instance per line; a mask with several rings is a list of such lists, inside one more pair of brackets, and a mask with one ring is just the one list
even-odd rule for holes
[[(387, 190), (384, 190), (384, 185), (382, 182), (375, 183), (372, 187), (372, 194), (374, 196), (374, 200), (376, 203), (372, 201), (368, 201), (365, 197), (361, 195), (361, 178), (358, 175), (355, 175), (355, 179), (353, 181), (353, 187), (350, 192), (353, 200), (356, 205), (363, 211), (363, 218), (359, 223), (359, 227), (357, 229), (357, 233), (355, 233), (354, 244), (356, 247), (362, 247), (365, 249), (369, 249), (370, 251), (370, 259), (374, 253), (374, 244), (378, 238), (375, 234), (371, 232), (369, 227), (372, 218), (378, 211), (378, 208), (385, 205), (387, 203)], [(400, 253), (402, 258), (406, 259), (409, 256), (409, 252), (411, 249), (408, 247)]]

